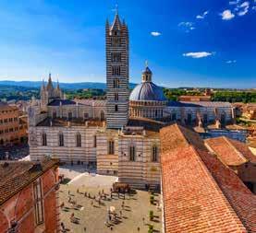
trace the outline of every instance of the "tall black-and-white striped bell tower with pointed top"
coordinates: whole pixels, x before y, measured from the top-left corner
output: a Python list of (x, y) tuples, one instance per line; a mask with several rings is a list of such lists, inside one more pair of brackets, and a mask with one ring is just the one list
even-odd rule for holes
[(128, 122), (129, 56), (128, 26), (121, 22), (116, 10), (112, 25), (105, 25), (106, 43), (106, 126), (120, 129)]

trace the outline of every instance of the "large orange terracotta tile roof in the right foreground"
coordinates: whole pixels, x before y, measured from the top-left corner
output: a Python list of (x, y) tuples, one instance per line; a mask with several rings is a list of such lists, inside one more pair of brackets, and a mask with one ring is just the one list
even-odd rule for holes
[(160, 131), (166, 232), (256, 232), (256, 196), (194, 132)]

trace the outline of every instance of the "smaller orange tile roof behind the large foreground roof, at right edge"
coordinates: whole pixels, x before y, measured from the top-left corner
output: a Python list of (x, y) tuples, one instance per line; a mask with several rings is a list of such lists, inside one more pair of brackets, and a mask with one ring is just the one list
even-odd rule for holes
[(238, 166), (249, 160), (252, 163), (256, 163), (256, 157), (251, 153), (248, 146), (227, 138), (226, 136), (206, 139), (205, 144), (209, 146), (227, 166)]

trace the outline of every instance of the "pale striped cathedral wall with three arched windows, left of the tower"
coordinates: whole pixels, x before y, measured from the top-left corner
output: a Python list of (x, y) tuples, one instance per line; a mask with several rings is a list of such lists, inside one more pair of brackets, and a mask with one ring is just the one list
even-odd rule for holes
[[(99, 127), (30, 127), (30, 157), (32, 160), (45, 156), (59, 158), (61, 161), (77, 163), (96, 162), (95, 135)], [(43, 133), (47, 135), (47, 146), (43, 146)], [(64, 146), (59, 146), (59, 134), (64, 135)], [(77, 146), (76, 135), (81, 135), (81, 146)], [(96, 138), (97, 140), (97, 138)]]

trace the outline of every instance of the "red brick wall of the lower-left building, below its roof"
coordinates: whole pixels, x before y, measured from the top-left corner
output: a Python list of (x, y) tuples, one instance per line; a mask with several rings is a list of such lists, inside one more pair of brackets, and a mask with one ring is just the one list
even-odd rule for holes
[[(39, 178), (43, 188), (43, 224), (36, 225), (33, 183), (18, 192), (0, 207), (0, 232), (6, 232), (11, 227), (11, 222), (17, 222), (17, 232), (54, 233), (58, 232), (58, 194), (55, 185), (58, 179), (58, 170), (49, 169)], [(44, 230), (44, 231), (43, 231)]]

